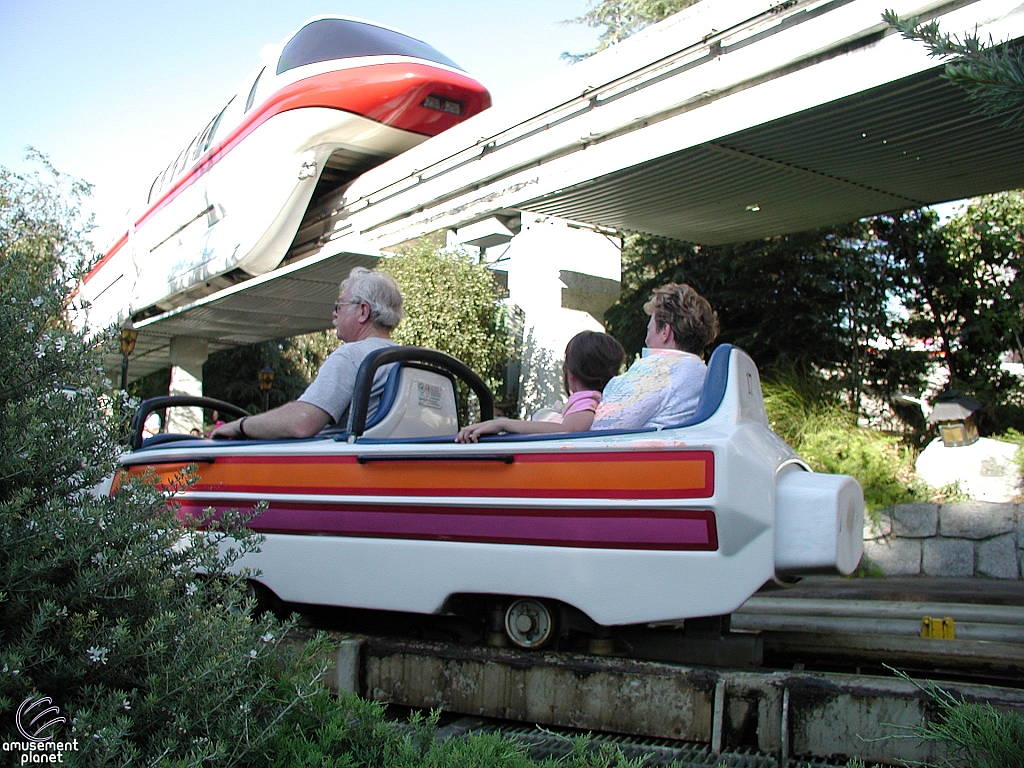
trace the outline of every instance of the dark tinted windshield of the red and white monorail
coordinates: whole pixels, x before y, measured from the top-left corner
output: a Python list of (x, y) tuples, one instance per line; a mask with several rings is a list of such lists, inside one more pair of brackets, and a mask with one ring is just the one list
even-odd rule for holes
[(414, 56), (462, 70), (426, 43), (394, 30), (350, 18), (321, 18), (295, 33), (278, 61), (278, 74), (317, 61), (355, 56)]

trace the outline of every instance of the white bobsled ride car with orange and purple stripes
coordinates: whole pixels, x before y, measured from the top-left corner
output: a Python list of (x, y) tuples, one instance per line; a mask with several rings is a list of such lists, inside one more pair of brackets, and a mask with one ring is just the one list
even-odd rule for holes
[[(385, 365), (385, 394), (367, 419)], [(143, 440), (146, 416), (176, 402), (244, 415), (207, 398), (154, 398), (133, 419), (122, 472), (170, 480), (194, 465), (198, 481), (175, 496), (184, 518), (266, 503), (249, 523), (265, 543), (239, 567), (285, 603), (479, 610), (524, 648), (550, 644), (560, 627), (607, 637), (727, 615), (773, 580), (857, 566), (860, 486), (810, 471), (771, 431), (757, 368), (736, 347), (712, 354), (693, 417), (660, 430), (456, 443), (457, 380), (490, 418), (482, 381), (420, 347), (369, 356), (347, 428), (308, 439)]]

